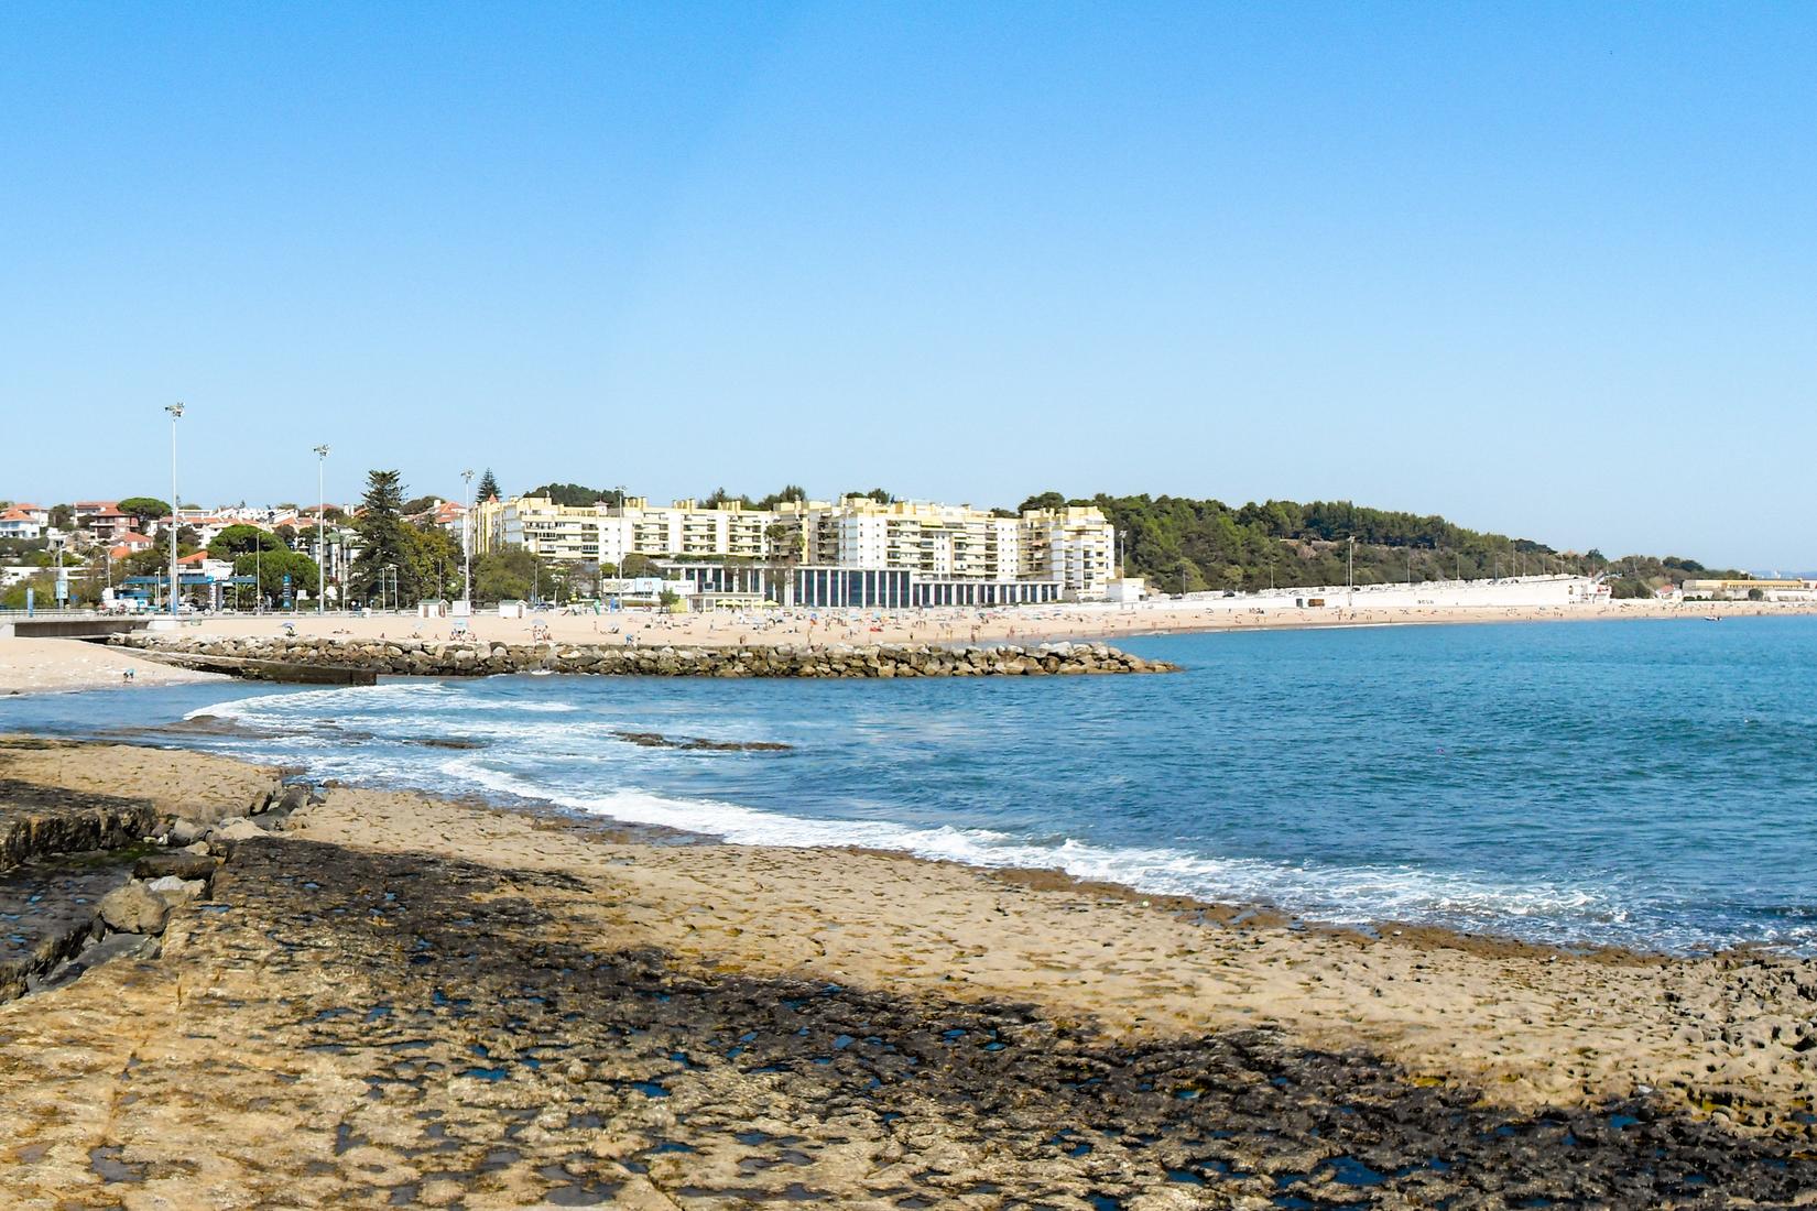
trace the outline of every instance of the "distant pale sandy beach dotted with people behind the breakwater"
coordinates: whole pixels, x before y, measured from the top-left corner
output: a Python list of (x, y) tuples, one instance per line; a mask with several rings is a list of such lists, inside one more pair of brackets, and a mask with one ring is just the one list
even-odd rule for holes
[[(521, 619), (482, 612), (471, 630), (492, 643), (529, 643), (536, 628), (572, 643), (640, 643), (643, 646), (738, 646), (740, 643), (1039, 643), (1047, 639), (1117, 639), (1185, 632), (1305, 630), (1317, 626), (1394, 626), (1441, 623), (1595, 623), (1621, 619), (1786, 617), (1817, 614), (1817, 603), (1757, 601), (1613, 601), (1555, 608), (1321, 608), (1266, 610), (1181, 603), (1018, 606), (1012, 610), (769, 610), (718, 614), (663, 614), (632, 608), (616, 614), (563, 614), (549, 610)], [(343, 635), (354, 639), (452, 635), (451, 619), (414, 614), (371, 617), (271, 614), (209, 615), (193, 619), (185, 635)], [(4, 652), (0, 641), (0, 652)]]

